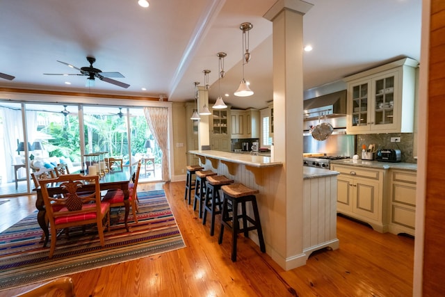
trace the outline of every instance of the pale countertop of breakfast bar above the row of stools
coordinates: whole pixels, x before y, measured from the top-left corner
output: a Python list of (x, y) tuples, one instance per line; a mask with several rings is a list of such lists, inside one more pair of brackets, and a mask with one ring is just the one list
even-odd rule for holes
[(221, 152), (218, 150), (191, 150), (191, 154), (205, 156), (212, 159), (218, 159), (231, 163), (244, 164), (252, 167), (273, 167), (282, 166), (282, 162), (274, 162), (270, 156), (256, 156), (254, 154), (240, 154), (234, 152)]

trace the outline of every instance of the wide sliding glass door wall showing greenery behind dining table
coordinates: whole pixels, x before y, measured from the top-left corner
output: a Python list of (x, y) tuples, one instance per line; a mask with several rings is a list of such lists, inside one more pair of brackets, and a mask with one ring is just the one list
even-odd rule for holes
[(161, 180), (161, 152), (143, 108), (0, 102), (0, 111), (0, 197), (32, 193), (31, 172), (41, 168), (66, 163), (79, 172), (97, 152), (124, 166), (141, 161), (140, 181)]

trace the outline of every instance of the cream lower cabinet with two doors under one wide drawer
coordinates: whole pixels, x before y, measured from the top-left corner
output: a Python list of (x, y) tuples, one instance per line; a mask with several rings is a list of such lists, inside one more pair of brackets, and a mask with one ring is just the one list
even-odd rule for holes
[(332, 164), (337, 176), (337, 212), (369, 223), (378, 232), (388, 231), (384, 190), (386, 171)]

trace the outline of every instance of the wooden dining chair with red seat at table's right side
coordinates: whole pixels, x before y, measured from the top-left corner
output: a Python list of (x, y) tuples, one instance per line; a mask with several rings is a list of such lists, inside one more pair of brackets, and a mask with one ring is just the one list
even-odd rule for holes
[[(139, 161), (138, 167), (136, 169), (136, 172), (133, 172), (133, 175), (131, 175), (131, 179), (129, 181), (129, 203), (131, 205), (131, 211), (133, 212), (133, 218), (134, 222), (138, 223), (138, 217), (136, 216), (136, 211), (138, 211), (138, 204), (136, 203), (138, 201), (138, 194), (137, 194), (137, 187), (138, 187), (138, 180), (139, 180), (139, 172), (140, 172), (140, 164), (142, 162)], [(124, 206), (124, 191), (120, 189), (111, 189), (108, 190), (102, 198), (102, 201), (106, 201), (110, 203), (110, 207), (123, 207)]]

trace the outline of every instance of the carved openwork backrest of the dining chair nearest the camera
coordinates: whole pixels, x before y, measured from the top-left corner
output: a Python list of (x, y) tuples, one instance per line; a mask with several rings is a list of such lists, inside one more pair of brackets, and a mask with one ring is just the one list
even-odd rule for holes
[[(53, 198), (49, 195), (48, 188), (50, 188), (52, 184), (56, 184), (61, 188), (64, 193), (63, 197)], [(91, 188), (92, 186), (88, 186), (87, 191), (84, 188), (84, 185), (87, 184), (93, 184), (94, 190)], [(100, 215), (101, 195), (98, 175), (60, 175), (54, 179), (42, 180), (40, 187), (42, 188), (42, 198), (50, 225), (51, 223), (54, 224), (54, 218), (66, 216), (67, 211), (70, 211), (70, 214), (91, 212), (91, 208), (84, 209), (84, 206), (90, 202), (96, 204), (97, 216)], [(53, 209), (61, 210), (53, 211)]]

